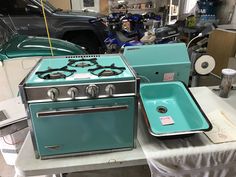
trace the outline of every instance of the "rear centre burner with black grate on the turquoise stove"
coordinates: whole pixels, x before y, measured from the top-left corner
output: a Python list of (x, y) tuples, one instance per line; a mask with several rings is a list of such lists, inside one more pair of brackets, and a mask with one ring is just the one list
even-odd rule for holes
[(90, 58), (90, 59), (80, 59), (80, 60), (68, 60), (69, 63), (67, 64), (68, 66), (72, 67), (80, 67), (80, 68), (85, 68), (89, 66), (94, 66), (97, 64), (97, 59), (96, 58)]

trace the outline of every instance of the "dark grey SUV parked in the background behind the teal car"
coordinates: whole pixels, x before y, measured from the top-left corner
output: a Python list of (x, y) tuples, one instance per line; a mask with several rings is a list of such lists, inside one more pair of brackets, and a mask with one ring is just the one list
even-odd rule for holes
[[(44, 1), (48, 27), (53, 38), (83, 46), (89, 53), (103, 53), (106, 25), (89, 11), (63, 11)], [(19, 34), (46, 36), (40, 0), (0, 0), (0, 18)]]

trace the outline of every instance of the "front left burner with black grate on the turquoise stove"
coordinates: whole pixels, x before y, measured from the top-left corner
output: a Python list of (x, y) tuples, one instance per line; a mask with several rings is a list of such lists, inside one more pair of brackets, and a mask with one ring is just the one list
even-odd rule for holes
[(65, 79), (66, 77), (71, 76), (74, 72), (76, 72), (76, 70), (69, 70), (67, 69), (67, 66), (64, 66), (57, 69), (48, 68), (48, 70), (38, 71), (35, 74), (37, 74), (40, 79), (54, 80), (62, 78)]

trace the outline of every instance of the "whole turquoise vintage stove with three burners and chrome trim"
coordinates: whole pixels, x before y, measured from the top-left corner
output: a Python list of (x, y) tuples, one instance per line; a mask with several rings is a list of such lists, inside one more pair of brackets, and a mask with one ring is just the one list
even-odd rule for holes
[(134, 148), (138, 88), (120, 55), (41, 59), (20, 84), (36, 157)]

